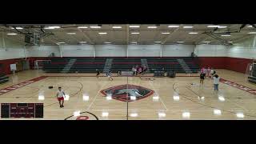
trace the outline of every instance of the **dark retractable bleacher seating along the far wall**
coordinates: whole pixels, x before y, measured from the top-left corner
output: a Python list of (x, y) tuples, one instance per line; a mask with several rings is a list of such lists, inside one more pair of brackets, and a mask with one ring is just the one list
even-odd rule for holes
[[(185, 73), (182, 66), (178, 62), (178, 58), (152, 58), (142, 57), (146, 59), (149, 66), (150, 73), (154, 71), (164, 70), (174, 71), (175, 73)], [(112, 73), (118, 73), (118, 71), (132, 70), (133, 66), (141, 66), (142, 58), (113, 58), (111, 71)], [(43, 70), (48, 73), (60, 73), (63, 68), (72, 58), (52, 58), (51, 63), (46, 63), (43, 66)], [(106, 58), (75, 58), (76, 62), (70, 67), (68, 73), (95, 73), (98, 69), (103, 71)], [(186, 65), (190, 67), (193, 73), (197, 73), (199, 66), (193, 61), (192, 58), (182, 58)]]

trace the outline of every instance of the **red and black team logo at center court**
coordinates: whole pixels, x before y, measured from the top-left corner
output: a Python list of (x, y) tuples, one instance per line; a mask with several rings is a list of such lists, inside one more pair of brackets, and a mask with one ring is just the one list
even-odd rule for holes
[(154, 93), (154, 90), (150, 90), (142, 86), (128, 84), (110, 87), (106, 90), (101, 90), (101, 93), (104, 94), (105, 97), (111, 96), (111, 98), (119, 101), (133, 102), (150, 96)]

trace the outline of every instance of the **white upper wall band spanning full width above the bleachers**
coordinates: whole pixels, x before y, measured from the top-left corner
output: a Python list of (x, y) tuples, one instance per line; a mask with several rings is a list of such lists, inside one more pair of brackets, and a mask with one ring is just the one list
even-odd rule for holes
[(82, 46), (30, 46), (6, 41), (0, 42), (0, 59), (48, 57), (188, 57), (194, 51), (198, 57), (256, 58), (256, 37), (235, 46), (222, 45), (82, 45)]

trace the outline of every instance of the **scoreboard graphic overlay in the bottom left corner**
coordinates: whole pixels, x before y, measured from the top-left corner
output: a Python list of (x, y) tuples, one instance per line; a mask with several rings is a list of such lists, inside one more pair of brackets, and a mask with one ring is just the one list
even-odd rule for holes
[(43, 103), (1, 103), (1, 118), (43, 118)]

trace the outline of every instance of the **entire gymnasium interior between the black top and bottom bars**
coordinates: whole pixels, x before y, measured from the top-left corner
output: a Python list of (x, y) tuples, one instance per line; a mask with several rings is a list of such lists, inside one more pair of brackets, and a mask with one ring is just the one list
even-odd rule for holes
[(255, 48), (255, 24), (0, 25), (0, 120), (255, 120)]

